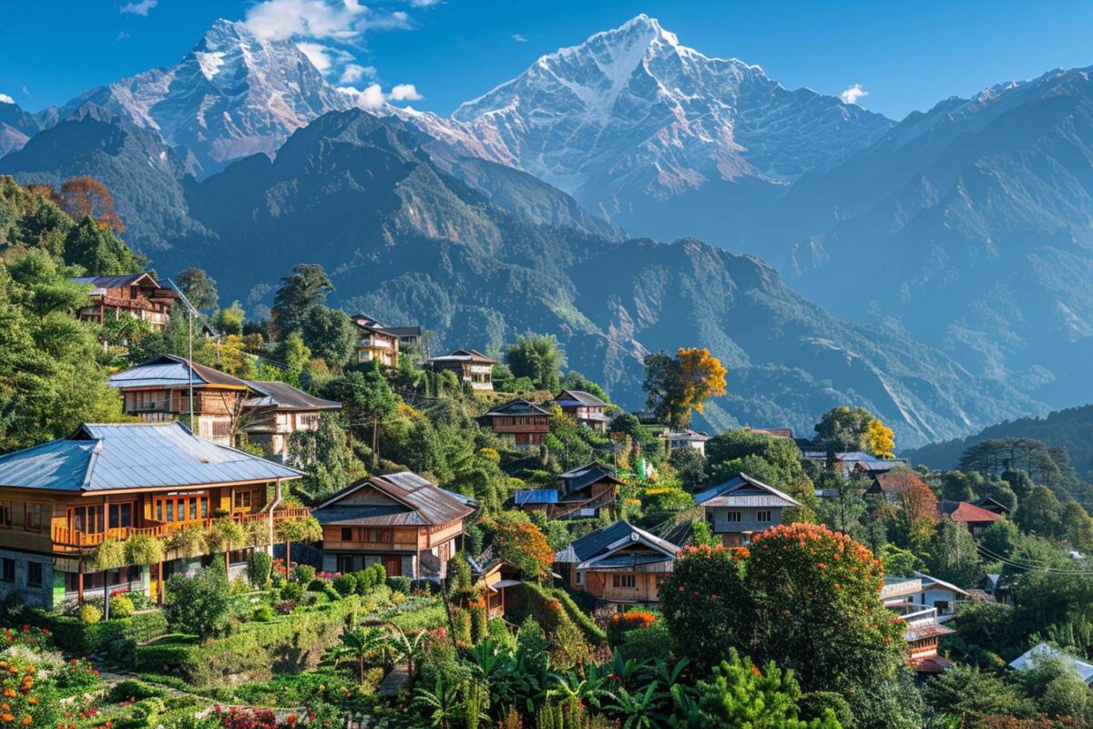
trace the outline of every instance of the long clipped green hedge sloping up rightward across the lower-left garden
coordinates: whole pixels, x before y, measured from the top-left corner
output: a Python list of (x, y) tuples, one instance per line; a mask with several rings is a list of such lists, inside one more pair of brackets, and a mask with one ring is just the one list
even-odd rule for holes
[(275, 623), (247, 624), (237, 633), (200, 645), (166, 640), (140, 646), (136, 666), (138, 670), (177, 675), (199, 687), (222, 683), (228, 677), (263, 681), (275, 673), (309, 670), (339, 643), (359, 602), (351, 596)]

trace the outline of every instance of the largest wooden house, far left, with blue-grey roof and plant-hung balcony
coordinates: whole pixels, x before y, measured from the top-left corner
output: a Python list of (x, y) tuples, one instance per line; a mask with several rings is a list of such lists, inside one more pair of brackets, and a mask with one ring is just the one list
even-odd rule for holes
[[(180, 423), (86, 424), (70, 438), (0, 456), (0, 593), (19, 590), (44, 608), (81, 602), (104, 586), (162, 593), (163, 579), (191, 569), (193, 558), (168, 549), (160, 565), (90, 573), (87, 550), (207, 529), (218, 518), (272, 540), (277, 520), (308, 513), (278, 507), (281, 484), (302, 475)], [(232, 552), (234, 572), (249, 551)]]

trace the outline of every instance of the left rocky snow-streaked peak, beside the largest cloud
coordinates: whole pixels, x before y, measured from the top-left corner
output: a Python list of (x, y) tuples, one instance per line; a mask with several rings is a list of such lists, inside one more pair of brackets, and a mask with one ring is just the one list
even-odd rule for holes
[(272, 154), (316, 117), (355, 105), (295, 43), (262, 39), (225, 20), (175, 66), (92, 89), (61, 107), (61, 118), (89, 102), (158, 132), (198, 177)]

